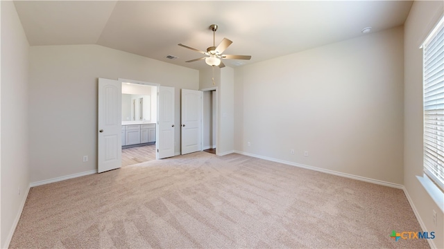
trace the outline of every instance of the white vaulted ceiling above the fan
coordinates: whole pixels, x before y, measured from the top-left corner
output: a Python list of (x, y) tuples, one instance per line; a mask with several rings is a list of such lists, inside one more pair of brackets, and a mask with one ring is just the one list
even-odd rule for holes
[[(404, 24), (412, 1), (15, 1), (31, 46), (99, 44), (189, 68), (185, 63), (232, 40), (226, 66), (250, 64)], [(178, 59), (167, 59), (175, 55)]]

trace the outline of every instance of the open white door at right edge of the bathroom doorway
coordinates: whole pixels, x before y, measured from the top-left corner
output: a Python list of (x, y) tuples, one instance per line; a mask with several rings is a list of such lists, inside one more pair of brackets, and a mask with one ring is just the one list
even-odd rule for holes
[(156, 158), (174, 156), (174, 87), (157, 87)]

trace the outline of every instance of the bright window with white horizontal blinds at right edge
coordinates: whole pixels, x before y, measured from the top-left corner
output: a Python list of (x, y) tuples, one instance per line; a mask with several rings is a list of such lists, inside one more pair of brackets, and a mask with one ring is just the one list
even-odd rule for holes
[(444, 18), (422, 44), (424, 172), (444, 190)]

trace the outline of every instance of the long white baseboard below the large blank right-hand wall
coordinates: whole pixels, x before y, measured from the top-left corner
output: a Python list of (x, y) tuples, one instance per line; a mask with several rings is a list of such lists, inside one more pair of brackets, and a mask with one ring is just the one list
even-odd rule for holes
[(366, 178), (366, 177), (363, 177), (363, 176), (355, 176), (355, 175), (352, 175), (352, 174), (336, 172), (336, 171), (330, 170), (330, 169), (321, 169), (321, 168), (318, 168), (318, 167), (313, 167), (313, 166), (309, 166), (309, 165), (303, 165), (303, 164), (300, 164), (300, 163), (293, 163), (293, 162), (290, 162), (290, 161), (287, 161), (287, 160), (280, 160), (280, 159), (276, 159), (276, 158), (269, 158), (269, 157), (266, 157), (266, 156), (259, 156), (259, 155), (251, 154), (251, 153), (244, 152), (244, 151), (234, 151), (234, 153), (242, 154), (242, 155), (246, 155), (246, 156), (252, 156), (254, 158), (260, 158), (260, 159), (264, 159), (264, 160), (269, 160), (269, 161), (276, 162), (276, 163), (283, 163), (283, 164), (286, 164), (286, 165), (302, 167), (304, 169), (311, 169), (311, 170), (315, 170), (317, 172), (323, 172), (323, 173), (327, 173), (327, 174), (334, 174), (336, 176), (343, 176), (343, 177), (346, 177), (346, 178), (352, 178), (352, 179), (355, 179), (355, 180), (365, 181), (365, 182), (368, 182), (368, 183), (375, 183), (375, 184), (384, 185), (384, 186), (388, 186), (388, 187), (395, 187), (395, 188), (398, 188), (398, 189), (401, 189), (401, 190), (404, 188), (404, 185), (400, 185), (400, 184), (397, 184), (397, 183), (388, 183), (386, 181), (379, 181), (379, 180), (376, 180), (376, 179)]

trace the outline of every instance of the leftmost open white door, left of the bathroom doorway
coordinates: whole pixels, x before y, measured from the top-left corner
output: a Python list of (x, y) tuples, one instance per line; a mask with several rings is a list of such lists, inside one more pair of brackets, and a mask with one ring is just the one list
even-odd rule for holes
[(121, 167), (122, 84), (99, 78), (97, 172)]

